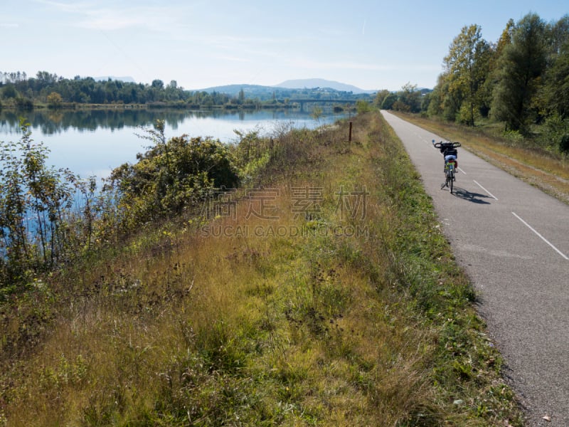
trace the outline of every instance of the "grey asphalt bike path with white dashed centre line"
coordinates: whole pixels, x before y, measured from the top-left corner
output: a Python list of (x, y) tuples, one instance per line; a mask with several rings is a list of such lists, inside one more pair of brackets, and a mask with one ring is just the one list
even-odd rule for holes
[[(569, 426), (569, 206), (458, 148), (441, 189), (442, 137), (382, 111), (422, 176), (528, 426)], [(548, 421), (549, 420), (549, 421)]]

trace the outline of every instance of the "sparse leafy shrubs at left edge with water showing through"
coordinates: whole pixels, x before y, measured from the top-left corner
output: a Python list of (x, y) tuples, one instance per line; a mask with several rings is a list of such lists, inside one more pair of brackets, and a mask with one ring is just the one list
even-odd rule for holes
[(73, 246), (88, 238), (70, 228), (85, 184), (68, 169), (46, 165), (49, 150), (33, 142), (29, 126), (21, 120), (20, 141), (0, 142), (0, 283), (26, 283), (73, 258)]

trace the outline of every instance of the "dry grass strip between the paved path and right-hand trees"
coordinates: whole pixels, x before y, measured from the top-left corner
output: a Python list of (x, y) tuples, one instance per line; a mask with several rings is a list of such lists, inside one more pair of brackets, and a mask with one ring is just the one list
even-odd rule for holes
[(523, 141), (513, 142), (501, 136), (496, 125), (472, 128), (418, 115), (397, 114), (440, 137), (462, 142), (464, 148), (479, 157), (569, 204), (568, 157), (532, 148)]

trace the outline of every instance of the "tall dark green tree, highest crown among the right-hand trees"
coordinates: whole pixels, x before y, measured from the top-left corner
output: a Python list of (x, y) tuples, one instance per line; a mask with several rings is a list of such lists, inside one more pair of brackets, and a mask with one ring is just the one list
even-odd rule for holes
[(497, 63), (491, 115), (506, 125), (506, 130), (527, 132), (534, 97), (541, 88), (547, 65), (546, 24), (536, 14), (524, 16), (512, 32), (511, 44)]

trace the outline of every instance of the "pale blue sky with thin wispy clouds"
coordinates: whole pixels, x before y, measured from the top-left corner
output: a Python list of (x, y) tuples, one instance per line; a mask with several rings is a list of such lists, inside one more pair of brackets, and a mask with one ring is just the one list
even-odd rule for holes
[(1, 0), (0, 71), (130, 76), (195, 90), (324, 78), (432, 88), (462, 27), (495, 42), (509, 19), (564, 1)]

